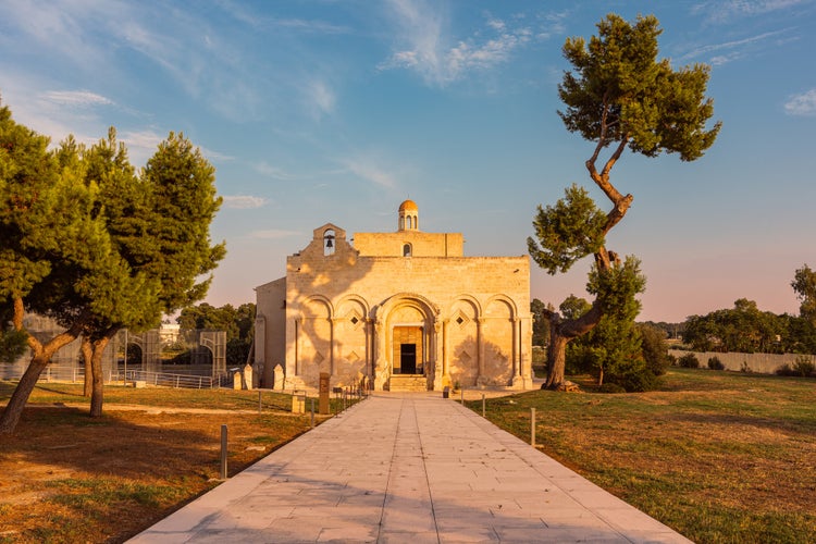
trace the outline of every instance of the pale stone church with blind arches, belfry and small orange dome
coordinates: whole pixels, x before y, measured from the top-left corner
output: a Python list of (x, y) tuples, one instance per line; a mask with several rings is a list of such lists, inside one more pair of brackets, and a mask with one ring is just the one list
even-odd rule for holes
[(256, 293), (264, 386), (281, 364), (275, 388), (317, 387), (321, 372), (378, 391), (403, 375), (436, 391), (532, 387), (529, 258), (465, 257), (461, 234), (419, 231), (410, 200), (397, 232), (356, 233), (354, 246), (334, 224), (316, 228)]

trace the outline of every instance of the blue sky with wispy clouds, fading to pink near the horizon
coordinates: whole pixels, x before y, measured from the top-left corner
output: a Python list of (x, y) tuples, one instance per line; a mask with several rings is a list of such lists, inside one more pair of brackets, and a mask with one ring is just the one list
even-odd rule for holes
[[(218, 169), (226, 240), (207, 301), (254, 301), (313, 228), (396, 230), (399, 202), (466, 255), (526, 255), (539, 203), (591, 188), (593, 147), (568, 133), (557, 84), (569, 36), (655, 14), (660, 55), (712, 65), (724, 127), (705, 157), (627, 153), (634, 196), (608, 246), (643, 261), (641, 319), (681, 321), (738, 298), (796, 312), (816, 267), (816, 2), (0, 0), (0, 94), (59, 141), (111, 125), (144, 165), (170, 131)], [(585, 296), (589, 262), (533, 264), (532, 296)]]

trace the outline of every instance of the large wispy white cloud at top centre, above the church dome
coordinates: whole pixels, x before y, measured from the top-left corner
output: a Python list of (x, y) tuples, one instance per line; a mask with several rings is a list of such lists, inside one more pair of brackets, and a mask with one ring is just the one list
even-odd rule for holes
[(506, 62), (510, 54), (533, 38), (527, 26), (487, 17), (485, 27), (465, 39), (445, 34), (445, 17), (435, 4), (423, 0), (392, 0), (398, 27), (397, 50), (380, 64), (380, 70), (406, 69), (417, 72), (429, 85), (445, 86), (473, 71), (484, 71)]

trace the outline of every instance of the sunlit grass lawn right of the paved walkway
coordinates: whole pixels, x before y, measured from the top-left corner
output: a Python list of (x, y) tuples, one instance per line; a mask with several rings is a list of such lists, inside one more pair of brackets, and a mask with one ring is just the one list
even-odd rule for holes
[(672, 368), (659, 392), (534, 391), (486, 416), (529, 442), (530, 408), (542, 452), (695, 542), (816, 542), (816, 380)]

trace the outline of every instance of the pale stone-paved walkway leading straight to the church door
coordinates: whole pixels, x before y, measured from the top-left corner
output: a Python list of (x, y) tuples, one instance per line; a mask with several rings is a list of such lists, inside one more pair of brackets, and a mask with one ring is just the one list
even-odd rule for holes
[(440, 397), (374, 395), (131, 542), (689, 542)]

